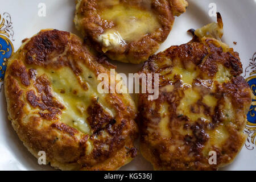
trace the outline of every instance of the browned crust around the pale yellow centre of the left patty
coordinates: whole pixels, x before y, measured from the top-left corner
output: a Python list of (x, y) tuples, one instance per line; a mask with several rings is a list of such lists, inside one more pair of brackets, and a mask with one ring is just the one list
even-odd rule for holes
[[(39, 151), (45, 151), (47, 161), (55, 168), (114, 170), (135, 157), (134, 152), (126, 148), (134, 147), (137, 136), (136, 109), (130, 96), (111, 94), (106, 98), (117, 113), (115, 118), (92, 98), (94, 105), (88, 109), (92, 135), (84, 134), (60, 121), (65, 106), (53, 97), (48, 77), (36, 72), (40, 67), (56, 70), (69, 67), (79, 80), (83, 70), (78, 63), (82, 63), (96, 77), (100, 73), (109, 74), (110, 64), (104, 67), (99, 60), (77, 36), (58, 30), (40, 31), (26, 40), (9, 60), (5, 95), (11, 123), (28, 150), (37, 158)], [(79, 84), (85, 91), (88, 89), (84, 81), (80, 80)], [(96, 121), (92, 121), (92, 117), (96, 117)], [(86, 154), (88, 141), (92, 152)], [(103, 150), (104, 145), (109, 146), (109, 150)]]

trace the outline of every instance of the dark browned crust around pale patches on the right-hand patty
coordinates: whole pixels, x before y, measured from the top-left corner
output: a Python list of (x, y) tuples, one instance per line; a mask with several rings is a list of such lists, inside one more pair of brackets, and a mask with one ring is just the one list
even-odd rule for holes
[[(167, 78), (168, 72), (165, 70), (174, 67), (175, 59), (179, 59), (181, 67), (187, 70), (199, 71), (197, 79), (193, 81), (192, 88), (198, 90), (201, 99), (195, 105), (191, 105), (191, 112), (197, 113), (203, 109), (205, 115), (212, 118), (210, 123), (205, 123), (198, 119), (192, 122), (186, 115), (177, 114), (177, 106), (181, 98), (184, 97), (184, 90), (181, 78), (174, 76), (172, 80)], [(214, 80), (218, 71), (218, 65), (223, 65), (229, 69), (231, 77), (229, 81), (219, 83)], [(151, 56), (143, 65), (141, 73), (160, 73), (160, 91), (159, 98), (154, 101), (148, 101), (148, 94), (139, 94), (138, 110), (141, 129), (141, 152), (144, 158), (149, 160), (155, 169), (159, 170), (216, 170), (218, 167), (225, 166), (233, 161), (241, 150), (246, 140), (243, 129), (246, 124), (246, 113), (251, 103), (250, 86), (245, 79), (239, 76), (242, 73), (242, 64), (237, 52), (229, 48), (223, 51), (219, 42), (213, 38), (202, 40), (193, 39), (193, 41), (181, 46), (172, 46), (164, 52)], [(210, 88), (203, 89), (200, 80), (208, 80), (209, 85), (216, 85), (213, 91)], [(174, 85), (172, 92), (161, 90), (163, 86)], [(208, 105), (202, 102), (206, 94), (211, 94), (217, 99), (217, 105), (212, 111)], [(224, 121), (222, 107), (224, 106), (224, 97), (230, 98), (232, 107), (235, 110), (232, 121)], [(159, 131), (158, 123), (161, 115), (159, 106), (163, 103), (168, 104), (168, 130), (171, 138), (162, 137)], [(217, 152), (217, 165), (210, 165), (209, 156), (203, 154), (203, 149), (209, 140), (209, 132), (224, 125), (228, 133), (228, 138), (220, 144), (220, 147), (214, 145), (209, 147), (209, 151)], [(188, 131), (189, 135), (180, 133), (180, 127), (183, 131)], [(154, 132), (149, 132), (148, 128)], [(177, 147), (175, 150), (170, 148)]]

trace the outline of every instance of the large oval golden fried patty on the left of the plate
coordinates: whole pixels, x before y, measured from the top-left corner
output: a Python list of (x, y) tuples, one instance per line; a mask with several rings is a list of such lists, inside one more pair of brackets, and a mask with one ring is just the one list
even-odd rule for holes
[[(11, 123), (36, 157), (60, 169), (113, 170), (136, 155), (129, 94), (101, 94), (110, 64), (69, 32), (42, 30), (11, 57), (5, 94)], [(117, 81), (118, 83), (118, 81)]]

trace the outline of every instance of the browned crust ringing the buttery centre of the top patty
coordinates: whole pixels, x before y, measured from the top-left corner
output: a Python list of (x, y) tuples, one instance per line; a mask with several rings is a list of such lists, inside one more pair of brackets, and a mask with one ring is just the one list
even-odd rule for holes
[[(98, 52), (102, 52), (102, 45), (97, 38), (106, 29), (112, 28), (113, 22), (108, 22), (100, 18), (100, 11), (106, 7), (100, 7), (99, 0), (81, 0), (77, 1), (80, 6), (76, 10), (75, 24), (76, 28), (82, 32), (86, 40), (96, 48)], [(127, 6), (135, 6), (138, 9), (145, 9), (145, 2), (140, 0), (120, 0)], [(171, 4), (170, 4), (171, 3)], [(123, 61), (126, 63), (142, 63), (149, 56), (155, 53), (159, 45), (166, 40), (174, 23), (174, 16), (185, 12), (187, 2), (184, 0), (152, 0), (151, 8), (157, 16), (160, 28), (143, 36), (140, 40), (129, 42), (125, 46), (110, 49), (105, 54), (113, 60)]]

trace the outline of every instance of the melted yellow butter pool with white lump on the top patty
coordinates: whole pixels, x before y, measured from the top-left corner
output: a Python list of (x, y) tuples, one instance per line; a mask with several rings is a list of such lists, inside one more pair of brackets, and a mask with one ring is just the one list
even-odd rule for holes
[(101, 18), (115, 23), (115, 27), (106, 30), (98, 38), (98, 41), (106, 47), (139, 40), (160, 27), (158, 19), (150, 9), (136, 9), (119, 4), (117, 1), (106, 1), (106, 3), (114, 5), (110, 9), (103, 10)]

